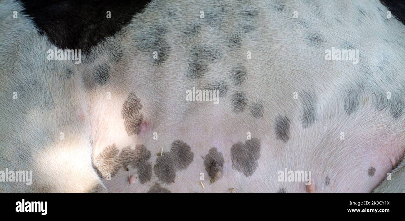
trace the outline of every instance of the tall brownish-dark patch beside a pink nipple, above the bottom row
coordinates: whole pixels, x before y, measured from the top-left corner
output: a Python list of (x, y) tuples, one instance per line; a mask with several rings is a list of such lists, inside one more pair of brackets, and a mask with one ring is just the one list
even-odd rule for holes
[(142, 109), (141, 101), (134, 92), (131, 92), (122, 106), (121, 115), (125, 120), (126, 132), (128, 135), (139, 134), (143, 120), (143, 115), (140, 112)]

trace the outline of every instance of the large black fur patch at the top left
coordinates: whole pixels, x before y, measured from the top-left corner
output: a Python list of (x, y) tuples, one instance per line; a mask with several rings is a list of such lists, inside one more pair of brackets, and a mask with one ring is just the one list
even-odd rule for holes
[[(119, 32), (132, 16), (144, 10), (151, 0), (53, 1), (21, 0), (24, 13), (32, 17), (40, 34), (62, 49), (89, 51), (100, 41)], [(107, 19), (107, 11), (111, 19)]]

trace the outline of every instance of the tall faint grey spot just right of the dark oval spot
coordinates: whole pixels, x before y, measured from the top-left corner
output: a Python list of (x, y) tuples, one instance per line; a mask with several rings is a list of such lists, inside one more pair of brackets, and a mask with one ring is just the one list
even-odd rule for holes
[(303, 112), (301, 116), (301, 121), (304, 128), (307, 128), (311, 126), (311, 124), (315, 121), (316, 118), (315, 106), (317, 105), (317, 101), (315, 93), (304, 92), (302, 95), (302, 102), (303, 102)]

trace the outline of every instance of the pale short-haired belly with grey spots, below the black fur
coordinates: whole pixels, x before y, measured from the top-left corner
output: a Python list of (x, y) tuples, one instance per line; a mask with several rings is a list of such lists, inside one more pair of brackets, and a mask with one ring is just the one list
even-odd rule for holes
[[(39, 178), (0, 189), (403, 192), (405, 26), (378, 1), (313, 4), (153, 0), (117, 33), (81, 36), (97, 44), (70, 48), (86, 47), (75, 64), (48, 61), (57, 37), (1, 1), (0, 168)], [(326, 60), (332, 47), (358, 63)], [(207, 87), (218, 104), (185, 99)], [(311, 185), (279, 181), (285, 169)]]

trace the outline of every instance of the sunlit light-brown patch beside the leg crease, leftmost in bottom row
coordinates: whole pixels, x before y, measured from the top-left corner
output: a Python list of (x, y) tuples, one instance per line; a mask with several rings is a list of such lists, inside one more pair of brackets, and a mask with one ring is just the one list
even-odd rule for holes
[(94, 166), (103, 178), (107, 178), (109, 173), (111, 177), (117, 174), (119, 169), (118, 148), (115, 144), (105, 147), (94, 160)]

